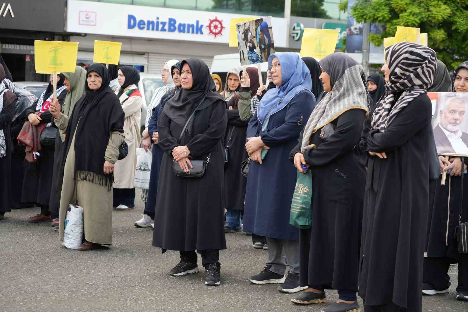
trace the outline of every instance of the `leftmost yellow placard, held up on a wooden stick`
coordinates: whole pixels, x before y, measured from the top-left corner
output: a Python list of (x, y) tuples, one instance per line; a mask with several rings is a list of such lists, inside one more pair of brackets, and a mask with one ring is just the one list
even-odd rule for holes
[(74, 72), (78, 42), (34, 41), (34, 65), (38, 74)]

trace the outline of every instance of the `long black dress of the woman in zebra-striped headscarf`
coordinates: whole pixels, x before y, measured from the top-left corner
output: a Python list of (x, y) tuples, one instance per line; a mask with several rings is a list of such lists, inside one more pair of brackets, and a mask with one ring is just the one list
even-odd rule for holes
[(387, 154), (368, 161), (359, 273), (366, 312), (382, 305), (421, 311), (431, 107), (427, 94), (416, 97), (385, 133), (366, 119), (361, 147)]

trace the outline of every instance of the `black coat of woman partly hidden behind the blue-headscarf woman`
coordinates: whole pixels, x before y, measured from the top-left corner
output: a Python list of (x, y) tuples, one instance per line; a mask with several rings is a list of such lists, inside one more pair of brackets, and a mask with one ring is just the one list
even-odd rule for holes
[(241, 175), (242, 162), (249, 157), (245, 150), (247, 125), (249, 120), (242, 121), (239, 110), (226, 110), (228, 126), (224, 144), (229, 144), (228, 163), (224, 166), (225, 207), (244, 210), (245, 187), (247, 178)]

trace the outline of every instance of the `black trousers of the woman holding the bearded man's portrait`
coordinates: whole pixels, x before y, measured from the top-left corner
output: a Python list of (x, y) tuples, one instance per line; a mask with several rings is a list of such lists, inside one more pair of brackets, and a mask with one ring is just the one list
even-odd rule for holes
[[(423, 282), (433, 285), (436, 290), (445, 290), (450, 287), (448, 269), (450, 258), (426, 257), (424, 258)], [(458, 260), (458, 287), (457, 292), (468, 295), (468, 254), (460, 254)]]

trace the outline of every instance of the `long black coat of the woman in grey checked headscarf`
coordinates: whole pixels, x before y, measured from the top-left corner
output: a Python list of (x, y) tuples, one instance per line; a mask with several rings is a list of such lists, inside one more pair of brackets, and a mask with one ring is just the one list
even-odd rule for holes
[[(366, 112), (345, 111), (331, 123), (327, 141), (321, 129), (311, 137), (315, 149), (304, 153), (312, 170), (312, 227), (300, 230), (300, 285), (358, 291), (359, 244), (366, 171), (358, 148)], [(290, 160), (300, 152), (299, 144)]]

